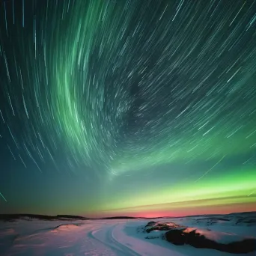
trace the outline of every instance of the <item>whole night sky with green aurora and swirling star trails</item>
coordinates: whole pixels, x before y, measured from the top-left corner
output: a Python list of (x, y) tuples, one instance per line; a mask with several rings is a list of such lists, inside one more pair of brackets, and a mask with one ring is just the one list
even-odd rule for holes
[(256, 1), (0, 13), (0, 213), (256, 210)]

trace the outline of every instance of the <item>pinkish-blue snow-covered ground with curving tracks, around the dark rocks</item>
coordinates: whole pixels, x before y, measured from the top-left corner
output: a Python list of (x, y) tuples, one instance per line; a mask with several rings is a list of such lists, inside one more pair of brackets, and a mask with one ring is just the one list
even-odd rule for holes
[[(0, 255), (231, 255), (213, 249), (196, 249), (189, 245), (174, 246), (162, 240), (161, 234), (166, 231), (143, 232), (144, 226), (150, 221), (150, 219), (85, 221), (19, 219), (16, 222), (0, 222)], [(207, 218), (207, 216), (152, 219), (152, 221), (185, 225), (222, 243), (240, 240), (241, 237), (256, 238), (255, 223), (241, 222), (235, 217), (228, 221), (214, 217)], [(256, 255), (256, 252), (247, 255)]]

